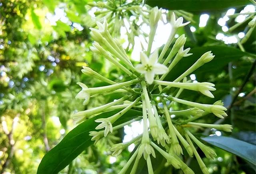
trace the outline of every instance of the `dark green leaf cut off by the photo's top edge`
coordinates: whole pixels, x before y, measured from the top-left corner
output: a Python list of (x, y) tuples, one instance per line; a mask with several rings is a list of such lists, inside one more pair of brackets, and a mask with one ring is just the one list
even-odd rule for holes
[(201, 12), (207, 10), (221, 10), (225, 8), (245, 6), (249, 0), (147, 0), (146, 4), (168, 10), (186, 10)]

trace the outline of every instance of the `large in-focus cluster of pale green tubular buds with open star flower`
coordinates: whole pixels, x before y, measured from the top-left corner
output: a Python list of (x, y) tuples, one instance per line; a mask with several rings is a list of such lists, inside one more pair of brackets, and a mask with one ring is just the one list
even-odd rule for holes
[[(90, 49), (95, 53), (104, 56), (108, 61), (116, 65), (116, 67), (124, 71), (131, 80), (116, 83), (100, 75), (96, 71), (93, 71), (89, 67), (84, 67), (82, 72), (86, 75), (110, 84), (103, 87), (88, 88), (85, 84), (78, 83), (78, 85), (82, 87), (82, 90), (78, 93), (77, 98), (85, 100), (85, 105), (88, 103), (90, 97), (103, 92), (120, 92), (124, 97), (102, 106), (75, 113), (74, 119), (78, 122), (82, 122), (87, 118), (94, 117), (100, 113), (118, 109), (116, 114), (111, 117), (95, 120), (96, 123), (100, 123), (95, 128), (98, 131), (91, 131), (90, 135), (93, 136), (92, 140), (98, 142), (102, 137), (107, 137), (109, 134), (112, 134), (114, 130), (120, 129), (125, 125), (141, 119), (141, 117), (138, 116), (136, 120), (133, 119), (113, 127), (113, 123), (118, 119), (122, 119), (121, 117), (130, 109), (133, 108), (142, 111), (142, 115), (140, 116), (142, 116), (143, 121), (143, 133), (129, 142), (115, 144), (110, 149), (114, 151), (113, 155), (119, 155), (122, 150), (126, 149), (130, 144), (137, 144), (134, 153), (122, 168), (120, 174), (128, 172), (132, 162), (134, 162), (134, 164), (130, 173), (136, 173), (138, 162), (140, 158), (142, 158), (142, 155), (147, 162), (148, 173), (153, 174), (154, 170), (151, 158), (156, 158), (155, 150), (166, 158), (169, 165), (172, 165), (174, 168), (180, 168), (185, 174), (193, 174), (194, 172), (180, 159), (183, 150), (186, 150), (190, 156), (196, 157), (202, 172), (208, 174), (208, 169), (199, 156), (194, 143), (202, 150), (202, 152), (204, 152), (207, 158), (212, 159), (216, 154), (212, 148), (200, 142), (192, 132), (195, 132), (198, 127), (200, 127), (200, 129), (214, 128), (230, 132), (232, 127), (230, 125), (210, 125), (192, 121), (196, 121), (196, 119), (211, 113), (217, 117), (224, 118), (227, 116), (225, 113), (226, 108), (223, 107), (221, 101), (217, 101), (213, 105), (210, 105), (186, 101), (178, 97), (184, 89), (187, 89), (214, 98), (214, 95), (210, 92), (216, 90), (214, 84), (208, 82), (191, 83), (190, 81), (186, 81), (186, 76), (190, 75), (200, 66), (211, 61), (214, 58), (214, 55), (210, 51), (204, 53), (177, 79), (172, 82), (164, 81), (164, 77), (171, 72), (176, 63), (183, 57), (191, 55), (191, 53), (188, 53), (188, 51), (190, 51), (189, 48), (184, 50), (186, 38), (182, 35), (176, 40), (167, 57), (164, 58), (167, 54), (167, 49), (174, 40), (178, 28), (189, 24), (189, 22), (183, 23), (182, 17), (176, 19), (175, 14), (172, 14), (170, 20), (172, 30), (168, 41), (164, 45), (159, 56), (158, 49), (150, 54), (151, 45), (155, 36), (156, 24), (158, 20), (160, 20), (160, 16), (160, 10), (157, 7), (152, 8), (149, 19), (150, 36), (148, 40), (148, 48), (140, 53), (141, 63), (138, 63), (135, 66), (126, 54), (124, 48), (122, 48), (117, 40), (110, 34), (107, 20), (104, 20), (103, 23), (97, 22), (98, 29), (91, 28), (91, 36), (95, 40), (95, 43)], [(166, 87), (162, 89), (162, 86)], [(159, 87), (158, 94), (156, 94), (156, 90), (154, 90), (156, 87)], [(170, 89), (171, 87), (179, 89), (178, 93), (174, 96), (172, 96), (174, 93), (165, 92), (170, 91), (166, 89)], [(174, 102), (184, 104), (188, 109), (173, 111), (172, 105)], [(177, 116), (185, 116), (182, 117), (184, 121), (182, 123), (177, 123), (175, 118), (171, 117), (173, 114)], [(184, 147), (183, 149), (182, 146)]]

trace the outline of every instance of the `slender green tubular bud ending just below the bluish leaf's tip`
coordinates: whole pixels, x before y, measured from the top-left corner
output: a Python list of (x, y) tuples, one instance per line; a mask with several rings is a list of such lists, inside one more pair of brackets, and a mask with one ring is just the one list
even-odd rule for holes
[(202, 142), (200, 142), (192, 133), (190, 133), (188, 130), (186, 130), (186, 133), (188, 136), (198, 145), (198, 147), (204, 152), (206, 158), (214, 159), (216, 157), (216, 153), (214, 150), (206, 145), (204, 145)]

